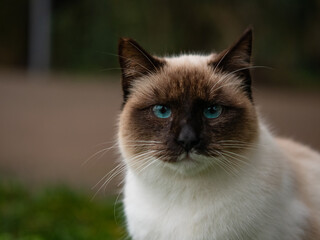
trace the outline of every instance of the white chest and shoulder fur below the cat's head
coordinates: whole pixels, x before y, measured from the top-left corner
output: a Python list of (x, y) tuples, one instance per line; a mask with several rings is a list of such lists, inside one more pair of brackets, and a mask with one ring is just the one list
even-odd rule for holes
[[(268, 138), (267, 138), (268, 139)], [(265, 144), (265, 143), (264, 143)], [(190, 178), (128, 169), (125, 213), (134, 240), (295, 240), (307, 210), (295, 197), (290, 172), (272, 148), (235, 176)], [(153, 172), (154, 171), (154, 172)]]

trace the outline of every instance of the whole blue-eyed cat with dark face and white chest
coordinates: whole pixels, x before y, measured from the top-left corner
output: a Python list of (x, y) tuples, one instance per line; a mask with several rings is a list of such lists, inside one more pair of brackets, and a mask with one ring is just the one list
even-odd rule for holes
[(320, 155), (261, 120), (251, 51), (251, 28), (208, 56), (160, 58), (119, 40), (133, 240), (320, 239)]

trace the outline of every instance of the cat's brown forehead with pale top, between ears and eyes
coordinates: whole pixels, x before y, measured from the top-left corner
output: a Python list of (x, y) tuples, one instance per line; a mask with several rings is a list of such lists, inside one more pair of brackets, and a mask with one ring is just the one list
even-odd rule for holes
[(232, 76), (215, 71), (209, 66), (210, 59), (212, 55), (166, 58), (166, 65), (161, 71), (136, 82), (134, 95), (144, 101), (213, 101), (224, 89), (238, 91), (239, 85), (233, 81)]

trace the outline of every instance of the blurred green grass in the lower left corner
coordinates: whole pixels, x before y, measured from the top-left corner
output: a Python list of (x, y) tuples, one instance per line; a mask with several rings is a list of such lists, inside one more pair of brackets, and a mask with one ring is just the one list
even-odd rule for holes
[(65, 187), (30, 193), (14, 183), (0, 183), (0, 240), (123, 239), (121, 204), (92, 201)]

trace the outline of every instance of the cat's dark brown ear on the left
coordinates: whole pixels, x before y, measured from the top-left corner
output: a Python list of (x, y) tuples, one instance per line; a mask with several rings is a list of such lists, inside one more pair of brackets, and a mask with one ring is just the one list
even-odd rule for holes
[(122, 71), (123, 99), (126, 102), (133, 81), (156, 72), (165, 62), (162, 59), (151, 56), (136, 41), (130, 38), (120, 38), (118, 54)]

